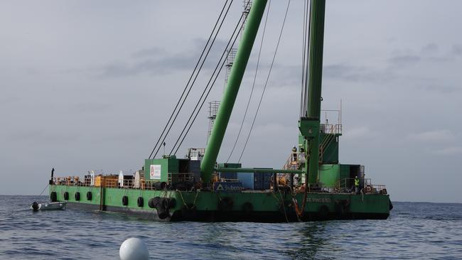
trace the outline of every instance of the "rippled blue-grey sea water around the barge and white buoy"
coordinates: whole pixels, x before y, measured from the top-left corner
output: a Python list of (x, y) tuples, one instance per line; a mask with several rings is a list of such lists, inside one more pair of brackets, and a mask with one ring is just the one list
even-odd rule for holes
[(462, 259), (462, 204), (394, 202), (388, 220), (162, 223), (119, 213), (31, 212), (0, 196), (0, 259), (119, 259), (139, 237), (151, 259)]

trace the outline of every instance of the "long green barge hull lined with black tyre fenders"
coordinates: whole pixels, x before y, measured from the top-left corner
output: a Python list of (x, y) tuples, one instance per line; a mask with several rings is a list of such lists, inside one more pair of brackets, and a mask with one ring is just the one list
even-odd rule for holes
[[(381, 219), (390, 215), (392, 207), (389, 196), (382, 194), (355, 195), (350, 193), (308, 193), (306, 207), (297, 217), (290, 193), (272, 192), (186, 192), (176, 190), (137, 190), (127, 188), (100, 188), (74, 185), (50, 185), (50, 197), (64, 201), (68, 193), (68, 208), (87, 208), (126, 212), (161, 221), (207, 221), (207, 222), (294, 222), (311, 220)], [(87, 193), (91, 199), (87, 200)], [(80, 200), (75, 200), (80, 193)], [(123, 205), (126, 196), (127, 205)], [(138, 205), (143, 197), (143, 205)], [(153, 197), (173, 198), (167, 217), (159, 217), (158, 210), (149, 207)], [(294, 197), (299, 203), (303, 194)], [(284, 203), (283, 203), (284, 202)]]

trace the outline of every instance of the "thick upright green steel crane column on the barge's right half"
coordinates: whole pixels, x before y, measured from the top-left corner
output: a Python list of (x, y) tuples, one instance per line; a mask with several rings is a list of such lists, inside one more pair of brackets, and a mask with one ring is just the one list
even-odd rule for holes
[[(311, 28), (309, 44), (308, 112), (307, 117), (319, 124), (321, 117), (321, 85), (323, 77), (324, 15), (326, 0), (311, 1)], [(318, 131), (319, 133), (319, 131)], [(319, 134), (308, 140), (308, 183), (318, 182)]]

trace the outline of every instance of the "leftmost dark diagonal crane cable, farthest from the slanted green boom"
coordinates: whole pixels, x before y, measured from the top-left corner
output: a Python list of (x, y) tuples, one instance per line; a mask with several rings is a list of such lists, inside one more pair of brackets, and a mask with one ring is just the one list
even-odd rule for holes
[[(156, 153), (154, 154), (154, 156), (152, 156), (152, 158), (155, 158), (155, 157), (156, 157), (157, 153), (159, 152), (159, 149), (161, 148), (161, 145), (162, 145), (163, 141), (165, 141), (165, 139), (166, 139), (168, 133), (169, 133), (170, 130), (171, 130), (171, 127), (173, 126), (173, 124), (174, 124), (175, 121), (176, 121), (176, 118), (178, 117), (178, 114), (180, 113), (181, 109), (183, 108), (183, 104), (184, 104), (184, 102), (186, 101), (186, 98), (188, 97), (188, 94), (189, 94), (190, 90), (192, 89), (192, 87), (193, 87), (193, 85), (194, 85), (194, 83), (195, 83), (195, 80), (197, 79), (197, 77), (198, 77), (198, 75), (199, 75), (199, 72), (200, 72), (200, 70), (202, 69), (202, 67), (203, 67), (203, 65), (204, 65), (204, 63), (205, 63), (205, 60), (207, 59), (208, 54), (210, 53), (210, 50), (211, 50), (211, 48), (212, 48), (212, 46), (213, 46), (213, 43), (215, 43), (215, 39), (217, 38), (217, 35), (218, 35), (218, 33), (220, 32), (220, 28), (221, 28), (221, 26), (222, 26), (222, 23), (223, 23), (223, 21), (225, 21), (225, 18), (226, 18), (226, 16), (227, 16), (227, 13), (228, 13), (228, 11), (230, 10), (230, 6), (232, 5), (232, 1), (234, 1), (234, 0), (231, 0), (231, 1), (230, 1), (230, 4), (227, 6), (227, 2), (228, 2), (228, 1), (229, 1), (229, 0), (226, 0), (226, 1), (225, 1), (225, 4), (223, 5), (223, 8), (222, 8), (222, 10), (221, 10), (221, 12), (220, 12), (220, 16), (218, 16), (217, 21), (215, 22), (215, 26), (213, 26), (213, 30), (212, 30), (212, 32), (210, 33), (210, 36), (208, 37), (207, 43), (205, 43), (205, 46), (204, 46), (204, 48), (203, 48), (203, 50), (202, 50), (202, 53), (200, 54), (199, 60), (198, 60), (198, 62), (195, 64), (194, 70), (193, 70), (193, 72), (191, 73), (191, 75), (190, 75), (190, 77), (189, 77), (189, 80), (188, 80), (188, 82), (186, 83), (186, 86), (185, 86), (183, 92), (181, 93), (181, 96), (180, 96), (180, 98), (178, 99), (178, 102), (176, 103), (175, 108), (173, 109), (173, 112), (172, 112), (172, 114), (170, 115), (170, 118), (168, 119), (166, 126), (163, 128), (163, 131), (162, 131), (162, 133), (161, 133), (161, 136), (159, 136), (159, 139), (157, 140), (156, 145), (155, 145), (154, 148), (152, 149), (152, 151), (151, 151), (151, 153), (149, 154), (149, 157), (148, 157), (148, 158), (151, 158), (151, 156), (153, 155), (154, 151), (156, 151), (156, 148), (159, 146), (159, 148), (157, 148), (157, 151), (156, 151)], [(226, 6), (227, 6), (227, 10), (226, 10), (226, 12), (225, 12), (225, 15), (224, 15), (223, 18), (222, 18), (223, 11), (225, 11)], [(221, 20), (221, 23), (220, 23), (220, 20)], [(220, 26), (218, 27), (217, 31), (215, 32), (215, 29), (217, 28), (218, 23), (220, 23)], [(210, 43), (210, 39), (212, 38), (214, 32), (215, 32), (215, 36), (214, 36), (214, 38), (213, 38), (213, 40), (212, 40), (212, 43)], [(210, 45), (209, 45), (209, 43), (210, 43)], [(208, 48), (208, 50), (207, 50), (207, 48)], [(205, 50), (207, 50), (207, 53), (205, 53)], [(205, 53), (205, 57), (203, 58), (204, 53)], [(202, 58), (203, 58), (203, 59), (202, 59)], [(200, 63), (201, 60), (202, 60), (202, 63), (200, 64), (200, 67), (199, 67), (199, 69), (198, 69), (198, 65), (199, 65), (199, 63)], [(197, 71), (197, 73), (195, 73), (197, 69), (198, 69), (198, 71)], [(194, 77), (194, 75), (195, 75), (195, 77)], [(193, 79), (193, 77), (194, 77), (194, 80), (193, 80), (192, 84), (189, 86), (189, 90), (188, 90), (188, 92), (186, 93), (186, 96), (185, 96), (184, 99), (183, 99), (183, 96), (184, 96), (186, 90), (188, 89), (188, 85), (190, 84), (190, 82), (191, 82), (191, 80)], [(181, 102), (182, 99), (183, 99), (183, 102)], [(178, 112), (176, 112), (176, 109), (178, 108), (178, 104), (180, 104), (180, 102), (181, 102), (181, 106), (180, 106), (180, 108), (178, 109)], [(175, 113), (176, 113), (176, 115), (175, 115)], [(174, 118), (173, 118), (173, 115), (175, 115)], [(171, 121), (172, 118), (173, 118), (173, 121)], [(171, 124), (170, 124), (170, 123), (171, 123)], [(168, 127), (169, 124), (170, 124), (170, 127)], [(167, 132), (166, 132), (167, 127), (168, 127), (168, 130), (167, 130)], [(164, 136), (163, 139), (162, 139), (162, 136), (163, 136), (164, 133), (165, 133), (165, 136)], [(161, 141), (161, 139), (162, 139), (162, 141)]]

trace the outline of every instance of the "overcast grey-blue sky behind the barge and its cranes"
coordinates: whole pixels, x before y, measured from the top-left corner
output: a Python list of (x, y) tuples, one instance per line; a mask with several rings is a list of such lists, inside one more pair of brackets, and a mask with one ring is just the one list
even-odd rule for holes
[[(0, 194), (38, 195), (53, 167), (61, 176), (141, 168), (223, 4), (0, 1)], [(270, 4), (254, 94), (230, 161), (249, 133), (287, 4)], [(322, 109), (339, 109), (341, 100), (340, 163), (365, 165), (394, 201), (462, 202), (461, 9), (457, 0), (327, 1)], [(281, 168), (297, 142), (302, 10), (303, 1), (290, 1), (244, 167)], [(166, 139), (167, 153), (241, 11), (236, 0)], [(218, 161), (240, 129), (261, 37), (262, 30)], [(220, 100), (224, 72), (208, 101)], [(205, 147), (207, 117), (204, 107), (177, 156)]]

